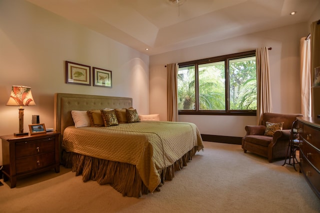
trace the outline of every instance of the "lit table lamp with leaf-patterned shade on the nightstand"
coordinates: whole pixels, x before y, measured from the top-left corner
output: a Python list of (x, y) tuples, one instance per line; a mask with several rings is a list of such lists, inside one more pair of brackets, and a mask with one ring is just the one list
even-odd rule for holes
[(34, 106), (31, 88), (26, 86), (12, 86), (11, 94), (7, 106), (20, 106), (19, 108), (19, 132), (14, 133), (15, 136), (27, 135), (23, 132), (23, 106)]

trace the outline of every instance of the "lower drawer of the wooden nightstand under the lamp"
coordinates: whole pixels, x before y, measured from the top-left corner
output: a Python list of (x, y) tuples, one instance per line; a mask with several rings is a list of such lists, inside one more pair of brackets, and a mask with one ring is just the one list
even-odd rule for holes
[(16, 159), (16, 173), (28, 172), (55, 164), (55, 152), (32, 155)]

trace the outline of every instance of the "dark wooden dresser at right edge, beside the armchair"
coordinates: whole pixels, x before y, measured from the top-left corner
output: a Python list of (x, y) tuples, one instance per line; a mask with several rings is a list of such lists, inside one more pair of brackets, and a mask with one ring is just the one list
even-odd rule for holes
[(320, 119), (298, 117), (300, 171), (320, 199)]

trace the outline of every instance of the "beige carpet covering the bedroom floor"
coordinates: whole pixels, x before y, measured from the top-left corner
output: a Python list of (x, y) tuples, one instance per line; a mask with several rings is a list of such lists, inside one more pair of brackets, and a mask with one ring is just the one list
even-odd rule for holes
[[(60, 168), (0, 187), (0, 212), (25, 213), (318, 213), (320, 200), (293, 167), (268, 163), (240, 145), (204, 142), (161, 192), (122, 197)], [(3, 180), (1, 180), (3, 183)]]

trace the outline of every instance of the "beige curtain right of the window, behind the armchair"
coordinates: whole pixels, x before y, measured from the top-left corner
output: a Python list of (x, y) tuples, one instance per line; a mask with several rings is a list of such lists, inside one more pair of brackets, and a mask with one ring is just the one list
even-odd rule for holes
[(257, 80), (256, 121), (257, 124), (260, 124), (262, 114), (272, 112), (268, 48), (257, 48), (255, 56)]

